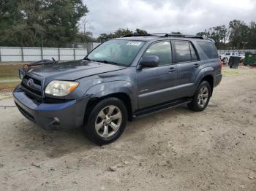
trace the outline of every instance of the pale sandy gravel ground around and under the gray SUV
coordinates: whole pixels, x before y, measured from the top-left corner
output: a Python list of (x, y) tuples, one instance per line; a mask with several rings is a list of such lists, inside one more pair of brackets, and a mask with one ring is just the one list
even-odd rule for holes
[(223, 74), (204, 112), (137, 119), (105, 147), (38, 128), (1, 93), (0, 190), (256, 190), (256, 69)]

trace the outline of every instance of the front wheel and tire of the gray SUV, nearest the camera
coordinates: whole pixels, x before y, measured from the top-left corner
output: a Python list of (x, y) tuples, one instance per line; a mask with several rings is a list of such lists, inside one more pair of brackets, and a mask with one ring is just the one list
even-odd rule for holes
[(116, 141), (127, 125), (127, 108), (118, 98), (105, 98), (91, 109), (86, 119), (86, 136), (96, 144)]

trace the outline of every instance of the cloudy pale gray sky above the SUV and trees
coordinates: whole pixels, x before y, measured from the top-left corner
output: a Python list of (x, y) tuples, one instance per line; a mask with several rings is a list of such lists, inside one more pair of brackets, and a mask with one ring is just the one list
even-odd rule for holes
[(118, 28), (196, 34), (230, 20), (256, 21), (255, 0), (83, 0), (94, 37)]

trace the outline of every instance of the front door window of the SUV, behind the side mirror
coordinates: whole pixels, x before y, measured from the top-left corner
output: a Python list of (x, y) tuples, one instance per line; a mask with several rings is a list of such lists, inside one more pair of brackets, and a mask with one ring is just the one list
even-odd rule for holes
[(172, 63), (170, 42), (157, 42), (146, 50), (143, 57), (148, 55), (157, 55), (159, 57), (159, 66)]

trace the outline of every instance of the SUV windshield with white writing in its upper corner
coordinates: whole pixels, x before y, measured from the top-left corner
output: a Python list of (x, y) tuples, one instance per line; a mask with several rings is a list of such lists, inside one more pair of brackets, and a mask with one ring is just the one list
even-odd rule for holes
[(100, 44), (86, 58), (91, 61), (129, 66), (143, 44), (143, 41), (110, 40)]

